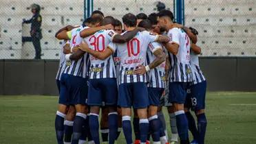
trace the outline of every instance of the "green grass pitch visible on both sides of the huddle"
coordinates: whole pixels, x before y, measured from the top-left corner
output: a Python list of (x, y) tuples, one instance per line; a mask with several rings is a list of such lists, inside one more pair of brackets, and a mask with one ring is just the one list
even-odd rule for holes
[[(57, 101), (48, 96), (0, 96), (0, 143), (56, 143)], [(256, 143), (256, 93), (207, 93), (206, 106), (206, 143)], [(122, 134), (119, 143), (125, 143)]]

